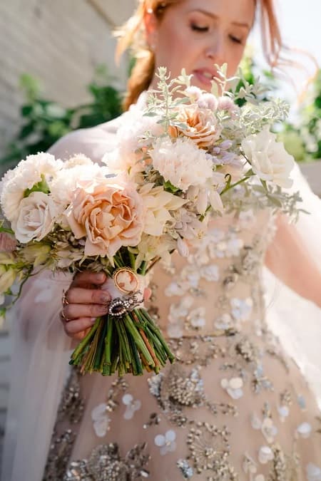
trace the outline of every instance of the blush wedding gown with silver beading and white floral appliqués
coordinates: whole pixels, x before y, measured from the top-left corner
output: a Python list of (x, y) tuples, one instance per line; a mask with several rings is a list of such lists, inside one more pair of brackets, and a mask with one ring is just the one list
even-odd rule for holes
[[(104, 134), (106, 144), (112, 134)], [(65, 141), (52, 152), (99, 158), (106, 144), (98, 145), (95, 135), (78, 148)], [(216, 217), (187, 259), (174, 254), (170, 265), (153, 268), (148, 309), (177, 361), (157, 376), (71, 370), (58, 415), (48, 412), (54, 433), (46, 467), (26, 481), (321, 480), (314, 395), (265, 321), (262, 270), (273, 225), (270, 212), (255, 206)], [(57, 313), (61, 298), (52, 299), (57, 294), (46, 279), (33, 282), (32, 314), (55, 303)], [(44, 405), (46, 399), (45, 389)]]

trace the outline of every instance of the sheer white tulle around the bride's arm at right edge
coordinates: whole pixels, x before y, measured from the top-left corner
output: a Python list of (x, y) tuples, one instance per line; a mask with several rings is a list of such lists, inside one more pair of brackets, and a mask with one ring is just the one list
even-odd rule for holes
[[(321, 200), (308, 185), (298, 165), (293, 172), (292, 191), (300, 192), (302, 209), (295, 233), (310, 260), (321, 272)], [(276, 256), (282, 263), (282, 255)], [(295, 262), (295, 259), (293, 259)], [(267, 321), (280, 337), (287, 353), (295, 359), (321, 406), (321, 309), (295, 294), (265, 269)], [(321, 277), (320, 277), (321, 278)], [(305, 282), (305, 279), (302, 279)], [(321, 284), (320, 297), (321, 297)]]

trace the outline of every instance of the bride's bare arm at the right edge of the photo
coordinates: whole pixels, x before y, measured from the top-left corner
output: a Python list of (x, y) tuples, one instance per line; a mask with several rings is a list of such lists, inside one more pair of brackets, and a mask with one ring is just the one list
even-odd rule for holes
[(275, 237), (267, 249), (266, 266), (290, 289), (321, 307), (321, 271), (317, 262), (285, 215), (277, 217), (276, 226)]

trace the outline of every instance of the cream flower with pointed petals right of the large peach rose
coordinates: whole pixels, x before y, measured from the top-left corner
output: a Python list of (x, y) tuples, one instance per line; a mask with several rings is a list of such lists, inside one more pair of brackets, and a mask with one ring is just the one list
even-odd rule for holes
[(181, 197), (165, 192), (162, 186), (153, 187), (153, 184), (143, 185), (139, 195), (145, 210), (143, 232), (156, 237), (163, 234), (166, 222), (173, 221), (170, 211), (178, 210), (186, 203)]

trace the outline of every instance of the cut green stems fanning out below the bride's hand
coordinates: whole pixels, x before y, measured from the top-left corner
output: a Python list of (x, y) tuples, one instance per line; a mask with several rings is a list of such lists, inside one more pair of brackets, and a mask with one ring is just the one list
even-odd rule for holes
[(73, 351), (70, 364), (79, 366), (83, 374), (99, 372), (111, 376), (117, 371), (118, 376), (141, 376), (144, 370), (159, 373), (166, 361), (174, 360), (146, 309), (133, 309), (119, 317), (98, 317)]

